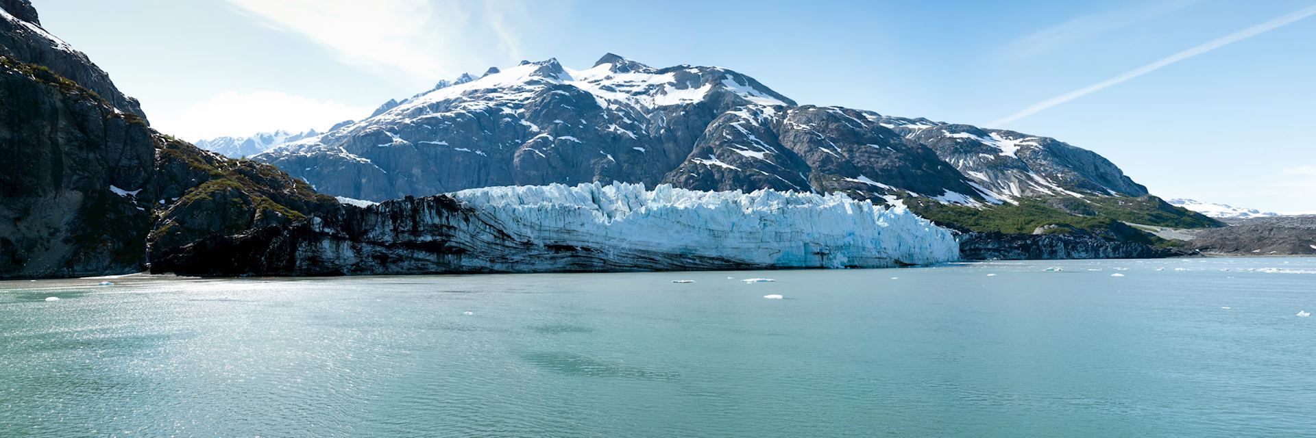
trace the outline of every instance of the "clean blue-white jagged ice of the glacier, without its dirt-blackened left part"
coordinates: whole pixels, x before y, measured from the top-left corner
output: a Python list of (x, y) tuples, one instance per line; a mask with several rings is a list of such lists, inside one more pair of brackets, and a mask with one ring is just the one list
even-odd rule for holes
[[(771, 267), (886, 267), (959, 256), (950, 230), (841, 193), (588, 183), (451, 193), (516, 239)], [(763, 281), (750, 279), (746, 281)]]

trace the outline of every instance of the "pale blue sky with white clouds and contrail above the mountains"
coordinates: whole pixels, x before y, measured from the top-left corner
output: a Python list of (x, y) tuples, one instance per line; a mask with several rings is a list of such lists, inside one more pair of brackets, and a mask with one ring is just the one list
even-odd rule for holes
[(1316, 213), (1313, 0), (33, 3), (192, 141), (322, 130), (462, 72), (616, 53), (1054, 137), (1165, 199)]

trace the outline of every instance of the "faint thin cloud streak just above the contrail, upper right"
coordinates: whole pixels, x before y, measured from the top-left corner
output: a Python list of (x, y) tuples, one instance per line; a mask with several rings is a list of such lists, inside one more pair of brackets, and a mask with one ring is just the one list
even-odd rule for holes
[(1015, 39), (998, 49), (996, 53), (1011, 58), (1038, 55), (1061, 46), (1091, 39), (1107, 32), (1163, 16), (1198, 1), (1166, 0), (1079, 16)]

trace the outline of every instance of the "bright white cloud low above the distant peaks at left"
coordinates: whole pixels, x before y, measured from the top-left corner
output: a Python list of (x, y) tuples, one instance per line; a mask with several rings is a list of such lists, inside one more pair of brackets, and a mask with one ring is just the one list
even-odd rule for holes
[(163, 132), (197, 141), (279, 129), (324, 130), (342, 120), (366, 117), (371, 109), (276, 91), (222, 92), (178, 113), (154, 114), (151, 121)]

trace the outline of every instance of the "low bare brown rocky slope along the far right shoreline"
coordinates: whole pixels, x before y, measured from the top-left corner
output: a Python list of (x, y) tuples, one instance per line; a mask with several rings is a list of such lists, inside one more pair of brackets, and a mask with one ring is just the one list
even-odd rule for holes
[(1199, 230), (1188, 247), (1208, 254), (1316, 254), (1316, 216), (1233, 220), (1230, 226)]

